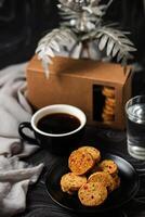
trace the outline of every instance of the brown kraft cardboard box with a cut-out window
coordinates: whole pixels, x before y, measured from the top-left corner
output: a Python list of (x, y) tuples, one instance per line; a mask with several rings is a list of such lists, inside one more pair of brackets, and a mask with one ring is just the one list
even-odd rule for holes
[[(37, 56), (27, 67), (27, 98), (36, 110), (50, 104), (71, 104), (87, 114), (88, 125), (124, 128), (124, 104), (131, 98), (130, 67), (124, 73), (119, 64), (57, 56), (49, 69), (48, 79)], [(108, 100), (103, 94), (104, 87), (111, 87), (115, 92), (114, 118), (107, 122), (103, 116)]]

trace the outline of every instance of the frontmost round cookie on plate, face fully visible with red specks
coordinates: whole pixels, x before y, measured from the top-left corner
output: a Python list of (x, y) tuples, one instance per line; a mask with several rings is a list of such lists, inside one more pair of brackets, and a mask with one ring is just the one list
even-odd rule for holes
[(107, 199), (107, 189), (97, 182), (88, 182), (78, 191), (78, 197), (84, 206), (98, 206)]

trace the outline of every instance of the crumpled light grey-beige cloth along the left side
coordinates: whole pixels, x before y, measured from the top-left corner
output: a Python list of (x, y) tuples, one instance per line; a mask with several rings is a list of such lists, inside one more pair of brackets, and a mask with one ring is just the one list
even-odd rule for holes
[(23, 143), (18, 124), (29, 122), (32, 111), (25, 98), (26, 63), (0, 71), (0, 217), (13, 216), (26, 207), (28, 186), (38, 180), (43, 164), (28, 165), (22, 157), (38, 146)]

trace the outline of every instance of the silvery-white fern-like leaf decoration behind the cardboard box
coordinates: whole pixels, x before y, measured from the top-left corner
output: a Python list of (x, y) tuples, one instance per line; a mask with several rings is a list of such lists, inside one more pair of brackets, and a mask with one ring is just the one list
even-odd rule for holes
[(38, 43), (36, 53), (49, 76), (48, 64), (57, 53), (67, 51), (68, 56), (101, 60), (101, 53), (116, 58), (123, 66), (136, 49), (127, 37), (129, 33), (117, 28), (116, 24), (103, 24), (103, 16), (113, 0), (101, 4), (102, 0), (60, 0), (62, 16), (60, 28), (53, 29)]

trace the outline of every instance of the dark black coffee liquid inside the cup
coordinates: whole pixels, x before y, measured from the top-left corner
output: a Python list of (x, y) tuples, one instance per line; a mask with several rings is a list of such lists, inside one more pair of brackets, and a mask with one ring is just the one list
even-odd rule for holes
[(80, 124), (80, 120), (74, 115), (54, 113), (39, 119), (37, 128), (47, 133), (62, 135), (74, 131)]

